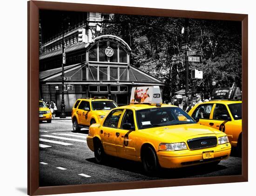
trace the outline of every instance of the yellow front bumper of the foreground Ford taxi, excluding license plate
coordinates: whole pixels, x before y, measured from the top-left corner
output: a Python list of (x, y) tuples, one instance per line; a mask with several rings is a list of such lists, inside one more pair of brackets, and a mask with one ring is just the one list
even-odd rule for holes
[[(213, 151), (214, 158), (203, 159), (202, 153), (206, 151)], [(200, 150), (158, 151), (157, 157), (161, 167), (179, 168), (227, 159), (230, 152), (231, 145), (227, 143)]]

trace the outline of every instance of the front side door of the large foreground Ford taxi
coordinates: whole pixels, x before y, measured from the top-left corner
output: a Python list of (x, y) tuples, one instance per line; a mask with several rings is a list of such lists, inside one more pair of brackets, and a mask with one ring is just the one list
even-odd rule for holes
[(132, 110), (126, 110), (121, 120), (121, 126), (115, 135), (117, 156), (135, 158), (135, 115)]

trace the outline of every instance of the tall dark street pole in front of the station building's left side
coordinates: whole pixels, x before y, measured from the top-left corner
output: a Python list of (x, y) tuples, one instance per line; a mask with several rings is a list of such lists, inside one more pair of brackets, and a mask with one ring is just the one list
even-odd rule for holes
[(64, 102), (64, 66), (66, 65), (65, 41), (64, 41), (64, 21), (62, 22), (62, 74), (61, 74), (61, 114), (60, 118), (66, 118)]

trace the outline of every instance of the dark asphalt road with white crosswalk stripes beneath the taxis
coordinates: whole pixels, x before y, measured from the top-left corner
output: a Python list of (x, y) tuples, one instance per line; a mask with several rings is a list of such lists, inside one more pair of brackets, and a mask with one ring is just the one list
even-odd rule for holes
[(167, 170), (158, 176), (144, 175), (142, 164), (117, 157), (108, 163), (95, 163), (94, 152), (89, 150), (88, 130), (74, 133), (71, 120), (52, 120), (41, 123), (40, 131), (40, 186), (58, 186), (91, 183), (144, 181), (155, 179), (188, 178), (199, 176), (241, 175), (242, 161), (232, 153), (214, 167), (193, 166)]

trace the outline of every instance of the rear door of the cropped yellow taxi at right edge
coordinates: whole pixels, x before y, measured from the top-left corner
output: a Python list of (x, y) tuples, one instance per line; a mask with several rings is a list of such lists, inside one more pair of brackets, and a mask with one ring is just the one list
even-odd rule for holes
[(198, 124), (210, 126), (210, 118), (212, 114), (212, 109), (213, 109), (214, 104), (200, 104), (196, 107), (195, 110), (193, 111), (191, 117), (196, 119), (199, 118)]

